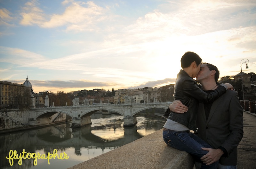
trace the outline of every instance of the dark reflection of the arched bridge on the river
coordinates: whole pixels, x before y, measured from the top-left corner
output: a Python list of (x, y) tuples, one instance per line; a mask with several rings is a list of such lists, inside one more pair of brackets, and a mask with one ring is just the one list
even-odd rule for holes
[[(36, 145), (38, 147), (48, 147), (49, 144), (51, 144), (52, 147), (63, 149), (74, 147), (79, 151), (82, 147), (96, 147), (101, 148), (103, 151), (106, 147), (120, 147), (143, 137), (137, 132), (136, 126), (124, 128), (124, 135), (116, 137), (114, 140), (105, 140), (104, 138), (94, 135), (91, 131), (91, 126), (76, 128), (75, 130), (70, 130), (68, 127), (59, 127), (63, 126), (52, 126), (50, 128), (40, 129), (40, 131), (36, 133)], [(45, 137), (45, 135), (47, 135), (47, 137)]]

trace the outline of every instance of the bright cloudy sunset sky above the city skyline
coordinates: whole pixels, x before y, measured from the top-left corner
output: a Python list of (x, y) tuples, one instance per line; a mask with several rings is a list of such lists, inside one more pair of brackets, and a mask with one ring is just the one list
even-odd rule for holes
[(187, 51), (256, 73), (256, 1), (0, 0), (0, 81), (36, 93), (159, 88)]

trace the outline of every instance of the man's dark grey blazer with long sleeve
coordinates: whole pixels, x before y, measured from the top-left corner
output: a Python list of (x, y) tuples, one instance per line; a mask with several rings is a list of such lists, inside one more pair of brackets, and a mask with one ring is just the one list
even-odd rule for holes
[(236, 165), (237, 145), (243, 137), (243, 108), (238, 93), (227, 90), (212, 103), (208, 120), (204, 113), (204, 104), (199, 103), (195, 134), (213, 148), (223, 147), (228, 157), (221, 157), (221, 165)]

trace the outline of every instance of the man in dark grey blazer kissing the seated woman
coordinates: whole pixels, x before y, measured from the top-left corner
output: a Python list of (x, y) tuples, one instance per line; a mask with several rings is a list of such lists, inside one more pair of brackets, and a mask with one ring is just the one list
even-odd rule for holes
[[(212, 64), (204, 63), (196, 76), (196, 81), (202, 84), (202, 90), (215, 90), (219, 83), (219, 70)], [(181, 102), (175, 101), (170, 109), (176, 113), (188, 110)], [(236, 168), (237, 145), (243, 137), (243, 108), (240, 105), (238, 93), (227, 90), (225, 94), (212, 103), (199, 103), (195, 134), (210, 144), (213, 148), (202, 148), (209, 151), (201, 160), (210, 165), (219, 160), (219, 169)], [(201, 163), (196, 162), (196, 168)]]

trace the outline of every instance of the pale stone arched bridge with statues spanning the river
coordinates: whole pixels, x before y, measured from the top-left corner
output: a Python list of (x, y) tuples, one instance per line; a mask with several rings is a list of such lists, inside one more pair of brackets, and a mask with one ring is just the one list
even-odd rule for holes
[(29, 124), (37, 125), (37, 119), (51, 117), (56, 113), (64, 113), (72, 117), (73, 126), (91, 124), (91, 115), (99, 110), (116, 112), (124, 116), (124, 127), (137, 124), (136, 114), (152, 108), (167, 109), (170, 102), (159, 103), (124, 103), (124, 104), (97, 104), (97, 105), (75, 105), (58, 106), (30, 109)]

